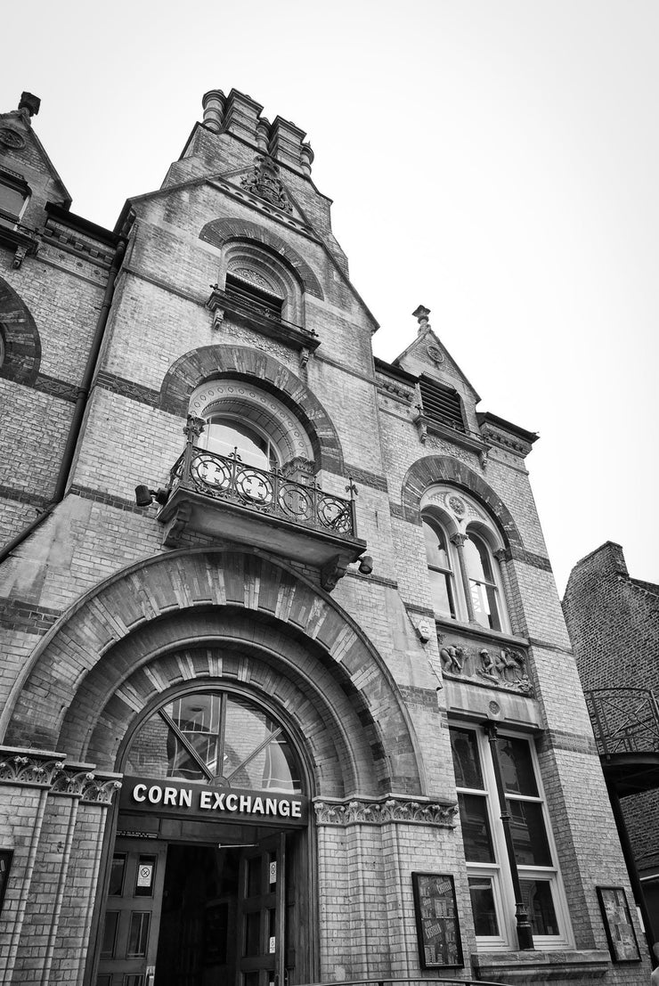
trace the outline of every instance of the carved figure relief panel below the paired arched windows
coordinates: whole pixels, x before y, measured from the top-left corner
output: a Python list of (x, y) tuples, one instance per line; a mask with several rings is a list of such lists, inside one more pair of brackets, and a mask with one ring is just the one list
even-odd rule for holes
[(464, 640), (444, 643), (440, 639), (439, 656), (445, 676), (471, 678), (478, 684), (533, 695), (527, 657), (521, 648), (498, 644), (485, 647), (482, 642)]

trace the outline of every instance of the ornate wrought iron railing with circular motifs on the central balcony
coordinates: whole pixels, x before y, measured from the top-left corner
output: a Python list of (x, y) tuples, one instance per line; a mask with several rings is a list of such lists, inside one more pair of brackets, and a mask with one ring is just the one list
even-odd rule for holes
[(308, 485), (288, 479), (279, 469), (267, 472), (256, 468), (244, 462), (237, 452), (220, 456), (188, 446), (172, 469), (171, 486), (173, 491), (183, 486), (304, 528), (356, 537), (352, 482), (348, 500), (324, 492), (315, 482)]

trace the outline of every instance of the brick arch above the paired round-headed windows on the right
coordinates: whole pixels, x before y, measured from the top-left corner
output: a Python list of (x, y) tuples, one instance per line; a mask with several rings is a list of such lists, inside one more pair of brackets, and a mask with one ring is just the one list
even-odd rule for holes
[(506, 546), (512, 550), (524, 550), (522, 536), (501, 497), (477, 472), (450, 456), (417, 458), (410, 465), (403, 479), (403, 518), (419, 524), (421, 496), (434, 483), (445, 482), (455, 483), (472, 493), (489, 510), (501, 530)]

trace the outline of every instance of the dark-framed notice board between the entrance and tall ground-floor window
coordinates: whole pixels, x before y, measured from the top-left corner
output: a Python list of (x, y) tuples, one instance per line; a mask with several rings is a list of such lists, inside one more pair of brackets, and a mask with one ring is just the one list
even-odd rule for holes
[(453, 877), (413, 873), (412, 889), (421, 967), (464, 965)]

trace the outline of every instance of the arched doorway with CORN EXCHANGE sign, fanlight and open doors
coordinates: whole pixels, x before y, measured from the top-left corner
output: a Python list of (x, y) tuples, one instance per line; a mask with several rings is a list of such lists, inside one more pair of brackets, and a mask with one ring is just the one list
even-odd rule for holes
[(197, 681), (124, 738), (98, 986), (308, 978), (309, 782), (270, 705), (236, 682)]

